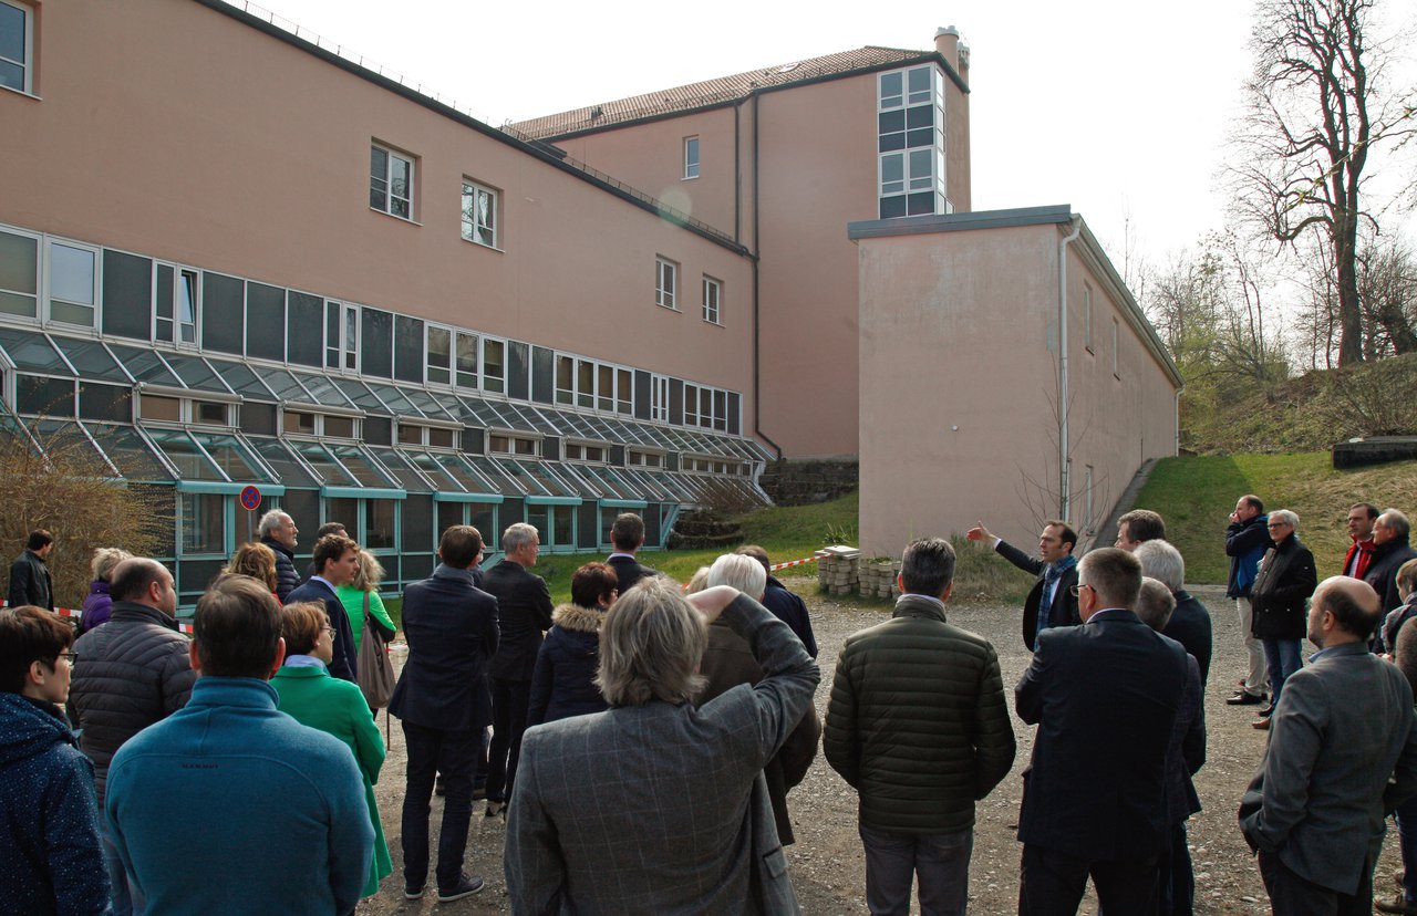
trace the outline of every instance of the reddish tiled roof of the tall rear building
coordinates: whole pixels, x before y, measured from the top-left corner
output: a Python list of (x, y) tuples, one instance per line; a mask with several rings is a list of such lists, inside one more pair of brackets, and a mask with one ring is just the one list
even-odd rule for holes
[(531, 118), (514, 122), (510, 127), (519, 133), (538, 140), (560, 137), (581, 130), (595, 130), (611, 125), (621, 125), (640, 118), (655, 118), (706, 108), (721, 102), (745, 99), (757, 91), (785, 86), (794, 82), (820, 79), (837, 74), (847, 74), (873, 67), (887, 67), (904, 61), (915, 61), (928, 57), (932, 51), (907, 51), (903, 48), (879, 48), (867, 45), (854, 51), (839, 51), (825, 57), (813, 57), (805, 61), (794, 61), (764, 69), (750, 69), (745, 74), (733, 76), (718, 76), (703, 82), (691, 82), (687, 86), (662, 89), (646, 95), (635, 95), (628, 99), (604, 102), (587, 108), (577, 108), (558, 115)]

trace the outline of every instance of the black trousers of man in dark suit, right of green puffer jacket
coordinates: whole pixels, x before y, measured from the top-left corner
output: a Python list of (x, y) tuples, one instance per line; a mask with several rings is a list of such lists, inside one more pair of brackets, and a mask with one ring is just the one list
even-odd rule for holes
[(1158, 905), (1156, 857), (1101, 861), (1023, 844), (1019, 916), (1074, 916), (1093, 878), (1108, 913), (1153, 916)]

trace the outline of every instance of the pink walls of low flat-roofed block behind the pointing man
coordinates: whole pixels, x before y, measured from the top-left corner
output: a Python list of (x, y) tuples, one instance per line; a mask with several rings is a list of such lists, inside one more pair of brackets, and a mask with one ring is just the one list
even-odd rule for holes
[[(1054, 224), (860, 242), (862, 546), (898, 555), (914, 537), (976, 520), (1033, 544), (1057, 513), (1058, 239)], [(1105, 283), (1070, 246), (1073, 521), (1093, 466), (1101, 525), (1146, 457), (1172, 454), (1175, 388), (1127, 321), (1111, 371)], [(1107, 348), (1081, 345), (1081, 290)], [(1076, 290), (1076, 292), (1073, 292)]]

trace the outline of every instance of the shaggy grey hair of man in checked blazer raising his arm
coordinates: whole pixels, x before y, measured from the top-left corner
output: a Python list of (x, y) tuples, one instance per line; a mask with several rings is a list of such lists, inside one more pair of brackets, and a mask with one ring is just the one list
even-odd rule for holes
[(693, 702), (708, 644), (703, 617), (662, 576), (640, 579), (605, 613), (595, 684), (611, 706)]

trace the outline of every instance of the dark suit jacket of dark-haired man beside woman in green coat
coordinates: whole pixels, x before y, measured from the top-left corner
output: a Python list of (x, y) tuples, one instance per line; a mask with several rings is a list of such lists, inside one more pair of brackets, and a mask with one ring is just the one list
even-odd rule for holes
[(487, 661), (497, 651), (497, 602), (472, 573), (439, 565), (404, 589), (408, 664), (390, 715), (425, 728), (476, 731), (492, 722)]

